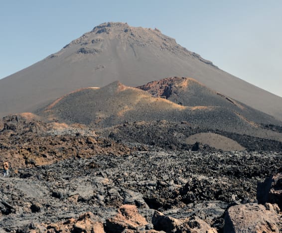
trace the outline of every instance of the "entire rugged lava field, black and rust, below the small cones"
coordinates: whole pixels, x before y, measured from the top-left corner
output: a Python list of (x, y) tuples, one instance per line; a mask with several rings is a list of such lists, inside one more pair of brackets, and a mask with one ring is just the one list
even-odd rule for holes
[(205, 131), (5, 117), (0, 233), (281, 232), (280, 142), (216, 131), (247, 149), (230, 152), (183, 140)]

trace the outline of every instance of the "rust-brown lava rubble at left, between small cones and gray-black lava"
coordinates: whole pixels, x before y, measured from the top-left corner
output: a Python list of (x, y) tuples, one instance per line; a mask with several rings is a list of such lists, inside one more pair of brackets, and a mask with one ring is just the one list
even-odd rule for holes
[(99, 137), (93, 130), (78, 124), (46, 123), (25, 115), (12, 115), (4, 117), (1, 125), (0, 156), (2, 161), (9, 162), (11, 176), (19, 168), (52, 164), (72, 157), (120, 155), (131, 151), (127, 146)]

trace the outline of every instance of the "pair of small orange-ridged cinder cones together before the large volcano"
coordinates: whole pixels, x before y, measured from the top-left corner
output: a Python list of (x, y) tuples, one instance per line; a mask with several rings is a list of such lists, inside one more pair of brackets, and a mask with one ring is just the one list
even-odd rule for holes
[(191, 78), (167, 78), (139, 88), (118, 81), (102, 88), (83, 88), (58, 98), (36, 114), (47, 121), (78, 123), (96, 129), (123, 122), (184, 121), (193, 127), (282, 140), (281, 133), (261, 128), (261, 122), (278, 125), (281, 121)]

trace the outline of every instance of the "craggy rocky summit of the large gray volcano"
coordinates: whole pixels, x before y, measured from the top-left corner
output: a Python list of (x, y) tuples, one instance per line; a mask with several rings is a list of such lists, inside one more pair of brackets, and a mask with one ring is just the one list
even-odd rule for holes
[(165, 53), (165, 55), (169, 53), (180, 59), (189, 57), (217, 68), (211, 61), (177, 44), (174, 38), (162, 34), (157, 28), (133, 27), (123, 22), (105, 22), (95, 26), (92, 31), (84, 33), (81, 37), (64, 46), (58, 53), (49, 56), (49, 58), (60, 56), (64, 53), (64, 49), (72, 45), (79, 46), (76, 51), (78, 54), (102, 53), (103, 48), (108, 47), (109, 44), (113, 46), (113, 40), (116, 40), (114, 42), (115, 47), (124, 47), (125, 50), (128, 47), (133, 50), (136, 58), (138, 58), (136, 51), (138, 50), (137, 47), (139, 47), (156, 51), (157, 56), (159, 56), (158, 53)]

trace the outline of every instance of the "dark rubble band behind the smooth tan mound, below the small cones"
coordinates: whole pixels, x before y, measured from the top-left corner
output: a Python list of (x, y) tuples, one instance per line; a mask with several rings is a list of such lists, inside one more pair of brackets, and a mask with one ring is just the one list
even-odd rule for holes
[[(265, 150), (280, 152), (282, 148), (282, 142), (276, 140), (226, 132), (223, 130), (192, 127), (187, 122), (176, 123), (165, 120), (152, 122), (125, 122), (101, 130), (101, 135), (109, 136), (116, 141), (137, 142), (165, 149), (190, 150), (192, 149), (192, 145), (187, 144), (186, 138), (201, 132), (212, 132), (226, 136), (238, 142), (249, 151)], [(211, 149), (209, 146), (205, 146), (207, 149)]]

